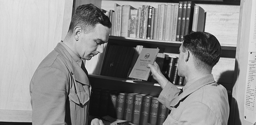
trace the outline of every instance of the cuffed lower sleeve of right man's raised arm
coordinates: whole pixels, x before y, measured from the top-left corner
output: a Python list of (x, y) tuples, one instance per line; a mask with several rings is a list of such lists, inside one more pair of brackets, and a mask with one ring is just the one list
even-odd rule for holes
[(175, 98), (177, 98), (179, 92), (179, 88), (177, 88), (171, 82), (168, 82), (161, 91), (158, 97), (158, 101), (165, 105), (167, 108), (171, 109), (170, 104)]

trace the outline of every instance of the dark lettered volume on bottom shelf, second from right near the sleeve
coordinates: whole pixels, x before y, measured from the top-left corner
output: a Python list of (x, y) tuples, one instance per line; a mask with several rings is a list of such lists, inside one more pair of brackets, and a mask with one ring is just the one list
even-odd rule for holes
[(157, 125), (157, 116), (159, 110), (160, 102), (158, 102), (157, 97), (153, 97), (151, 100), (151, 108), (150, 108), (150, 115), (149, 121), (151, 125)]

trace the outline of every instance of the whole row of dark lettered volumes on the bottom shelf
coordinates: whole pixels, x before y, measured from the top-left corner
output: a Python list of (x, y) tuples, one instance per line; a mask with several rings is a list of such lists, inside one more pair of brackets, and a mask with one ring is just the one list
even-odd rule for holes
[(133, 124), (162, 125), (170, 110), (157, 97), (139, 93), (125, 93), (108, 89), (92, 89), (89, 113), (92, 116), (109, 115)]

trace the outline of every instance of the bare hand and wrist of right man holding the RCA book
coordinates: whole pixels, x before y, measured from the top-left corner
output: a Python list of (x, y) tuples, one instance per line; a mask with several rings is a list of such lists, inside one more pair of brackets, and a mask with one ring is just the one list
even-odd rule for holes
[(168, 79), (165, 78), (165, 76), (161, 73), (161, 70), (159, 68), (159, 65), (154, 62), (153, 65), (148, 64), (147, 68), (151, 69), (151, 73), (153, 75), (153, 78), (160, 84), (161, 88), (164, 88), (166, 83), (169, 82)]

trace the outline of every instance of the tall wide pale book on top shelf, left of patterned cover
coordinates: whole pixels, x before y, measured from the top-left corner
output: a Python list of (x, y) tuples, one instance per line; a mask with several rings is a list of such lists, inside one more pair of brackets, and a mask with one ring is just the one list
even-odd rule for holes
[(121, 37), (129, 37), (129, 19), (131, 10), (136, 10), (136, 8), (131, 5), (122, 6)]

